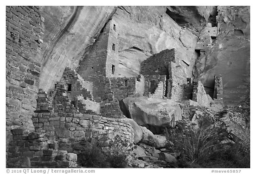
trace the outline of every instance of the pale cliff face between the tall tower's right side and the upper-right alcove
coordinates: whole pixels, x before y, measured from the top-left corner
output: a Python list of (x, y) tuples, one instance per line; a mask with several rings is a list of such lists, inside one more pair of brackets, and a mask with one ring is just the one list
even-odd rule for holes
[[(113, 19), (119, 33), (120, 77), (134, 77), (140, 71), (140, 63), (161, 50), (176, 48), (181, 66), (192, 76), (196, 60), (196, 35), (190, 29), (180, 27), (167, 13), (164, 6), (120, 6)], [(124, 23), (125, 21), (125, 23)]]

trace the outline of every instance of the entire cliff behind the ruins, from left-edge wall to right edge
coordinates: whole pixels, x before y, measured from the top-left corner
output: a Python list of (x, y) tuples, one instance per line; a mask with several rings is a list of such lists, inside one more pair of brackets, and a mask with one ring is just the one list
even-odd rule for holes
[[(187, 77), (211, 86), (213, 75), (223, 74), (224, 103), (235, 104), (249, 85), (250, 9), (219, 7), (219, 35), (213, 49), (197, 58), (197, 36), (205, 23), (214, 20), (213, 6), (119, 6), (41, 7), (44, 45), (40, 88), (51, 89), (64, 68), (76, 68), (108, 19), (119, 31), (119, 77), (134, 77), (140, 63), (164, 49), (176, 48)], [(198, 31), (198, 32), (197, 32)], [(243, 61), (242, 61), (243, 60)], [(241, 95), (234, 95), (234, 93)]]

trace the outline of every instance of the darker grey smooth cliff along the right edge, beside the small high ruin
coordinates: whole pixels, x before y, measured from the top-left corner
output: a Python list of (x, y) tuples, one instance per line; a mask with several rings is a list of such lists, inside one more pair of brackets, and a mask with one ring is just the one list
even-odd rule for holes
[(224, 105), (236, 105), (250, 89), (250, 7), (218, 7), (218, 36), (212, 50), (198, 58), (196, 78), (212, 86), (222, 74)]

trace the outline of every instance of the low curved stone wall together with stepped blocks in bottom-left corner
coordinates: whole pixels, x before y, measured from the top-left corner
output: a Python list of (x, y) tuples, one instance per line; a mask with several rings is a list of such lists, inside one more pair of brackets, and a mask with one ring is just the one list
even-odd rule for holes
[[(86, 150), (84, 139), (108, 132), (133, 142), (132, 125), (124, 119), (112, 119), (81, 113), (36, 113), (41, 128), (35, 132), (13, 129), (8, 149), (8, 168), (76, 167), (77, 154)], [(36, 122), (35, 122), (36, 123)]]

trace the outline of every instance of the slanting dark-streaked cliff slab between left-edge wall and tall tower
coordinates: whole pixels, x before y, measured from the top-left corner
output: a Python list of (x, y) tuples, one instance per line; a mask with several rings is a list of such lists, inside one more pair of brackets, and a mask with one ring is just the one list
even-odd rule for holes
[(47, 91), (60, 80), (66, 66), (78, 66), (115, 7), (42, 6), (40, 10), (45, 27), (40, 88)]

